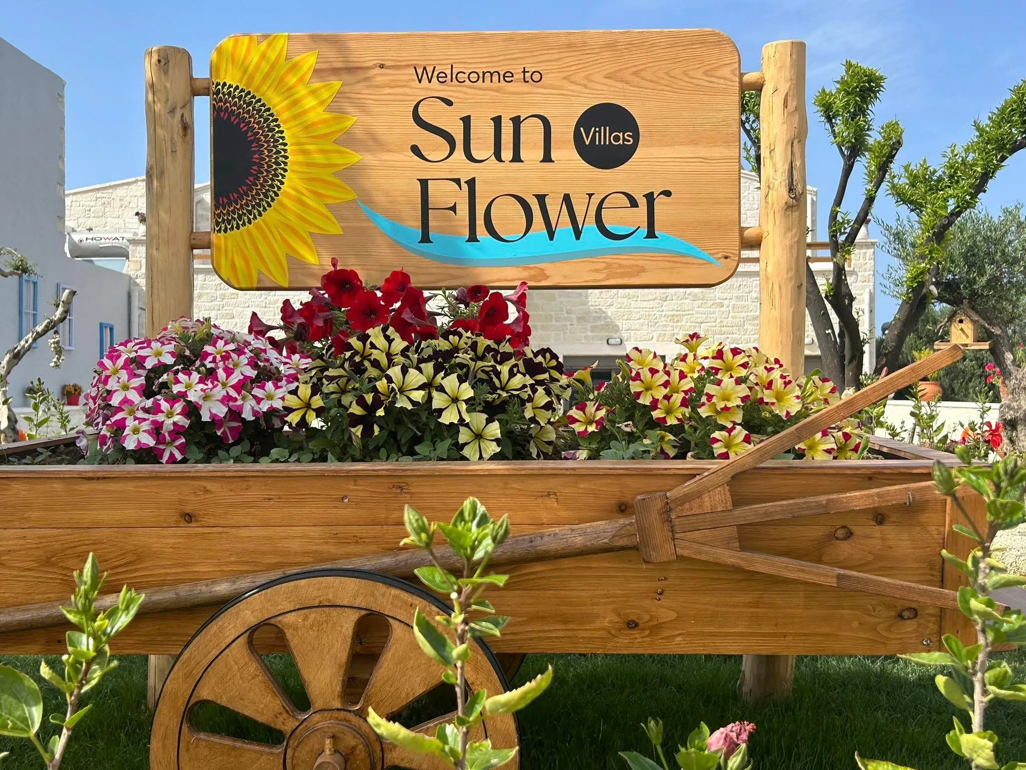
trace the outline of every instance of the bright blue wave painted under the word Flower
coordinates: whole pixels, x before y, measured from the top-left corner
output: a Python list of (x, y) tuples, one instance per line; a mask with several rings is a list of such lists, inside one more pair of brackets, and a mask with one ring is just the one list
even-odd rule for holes
[(397, 244), (418, 257), (462, 267), (519, 267), (545, 262), (566, 262), (588, 257), (606, 257), (614, 254), (673, 254), (678, 257), (709, 262), (719, 267), (719, 262), (698, 246), (666, 233), (656, 233), (655, 238), (644, 237), (644, 228), (624, 240), (602, 237), (594, 225), (582, 228), (581, 237), (574, 237), (569, 227), (558, 228), (550, 240), (544, 230), (527, 233), (512, 243), (482, 235), (478, 243), (468, 243), (463, 235), (432, 233), (432, 243), (419, 243), (421, 231), (383, 217), (357, 200), (360, 208), (374, 226)]

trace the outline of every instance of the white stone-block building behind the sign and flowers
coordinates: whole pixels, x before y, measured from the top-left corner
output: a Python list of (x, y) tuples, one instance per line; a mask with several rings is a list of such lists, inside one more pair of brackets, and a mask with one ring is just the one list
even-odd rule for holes
[[(759, 193), (755, 175), (741, 171), (741, 195), (742, 224), (756, 225)], [(816, 240), (816, 189), (810, 188), (810, 240)], [(209, 183), (196, 186), (195, 200), (195, 229), (208, 230)], [(141, 285), (145, 283), (145, 224), (140, 223), (136, 213), (145, 210), (143, 177), (71, 190), (67, 195), (69, 230), (126, 236), (130, 243), (127, 271)], [(876, 241), (861, 238), (849, 269), (852, 291), (858, 298), (856, 312), (864, 329), (875, 328), (875, 253)], [(272, 320), (278, 317), (282, 300), (291, 298), (294, 302), (303, 296), (298, 292), (238, 292), (221, 281), (202, 254), (197, 258), (195, 312), (197, 316), (210, 316), (215, 323), (245, 329), (253, 310)], [(551, 346), (571, 368), (595, 359), (611, 362), (635, 345), (661, 353), (676, 352), (673, 338), (694, 330), (713, 339), (754, 345), (759, 315), (757, 258), (757, 252), (744, 252), (735, 276), (712, 288), (532, 290), (527, 302), (532, 342), (536, 346)], [(829, 261), (814, 262), (821, 281), (829, 276), (830, 267)], [(137, 330), (145, 330), (144, 316), (139, 316)], [(867, 350), (869, 367), (874, 352), (871, 343)], [(819, 356), (806, 319), (806, 368), (817, 367)]]

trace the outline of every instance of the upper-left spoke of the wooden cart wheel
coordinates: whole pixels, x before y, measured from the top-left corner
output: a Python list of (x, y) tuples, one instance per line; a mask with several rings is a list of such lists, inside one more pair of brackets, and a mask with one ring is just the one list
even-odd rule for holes
[(288, 735), (300, 723), (288, 697), (252, 649), (249, 634), (235, 640), (203, 672), (192, 701), (212, 700)]

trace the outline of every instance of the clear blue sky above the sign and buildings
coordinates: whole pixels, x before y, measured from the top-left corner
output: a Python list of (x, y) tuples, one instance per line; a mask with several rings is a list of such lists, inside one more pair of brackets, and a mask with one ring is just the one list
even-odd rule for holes
[[(1026, 5), (1012, 1), (179, 0), (161, 6), (51, 0), (5, 5), (0, 36), (68, 83), (68, 189), (144, 172), (143, 53), (148, 46), (188, 48), (196, 74), (205, 75), (209, 52), (233, 33), (712, 27), (734, 38), (745, 70), (758, 69), (763, 43), (797, 38), (808, 44), (810, 99), (837, 77), (844, 59), (887, 75), (877, 116), (901, 120), (905, 147), (899, 160), (913, 161), (936, 162), (948, 145), (964, 142), (973, 119), (984, 117), (1026, 77)], [(197, 102), (199, 124), (206, 119), (204, 107), (203, 100)], [(197, 158), (206, 157), (205, 133), (197, 136), (202, 143)], [(821, 237), (837, 169), (837, 153), (811, 114), (808, 182), (821, 191)], [(197, 181), (207, 177), (206, 164), (198, 163)], [(1016, 157), (991, 185), (983, 205), (996, 211), (1024, 199), (1024, 187), (1026, 157)], [(876, 208), (877, 219), (894, 216), (889, 199)], [(878, 272), (886, 261), (880, 255)], [(896, 303), (877, 287), (880, 323)]]

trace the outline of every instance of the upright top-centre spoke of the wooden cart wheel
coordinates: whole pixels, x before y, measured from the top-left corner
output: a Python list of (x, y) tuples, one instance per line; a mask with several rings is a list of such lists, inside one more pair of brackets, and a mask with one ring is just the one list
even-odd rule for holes
[(353, 631), (364, 610), (317, 607), (275, 618), (300, 670), (310, 707), (342, 708)]

